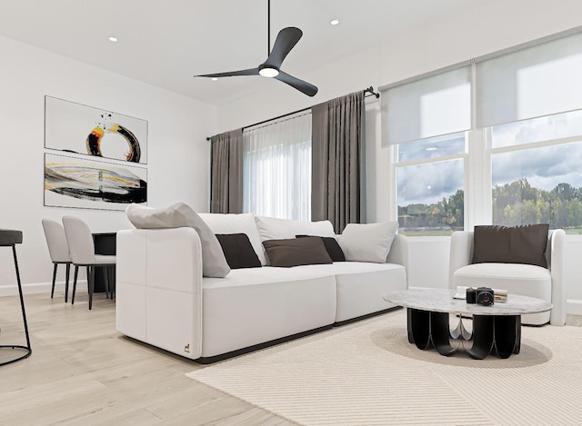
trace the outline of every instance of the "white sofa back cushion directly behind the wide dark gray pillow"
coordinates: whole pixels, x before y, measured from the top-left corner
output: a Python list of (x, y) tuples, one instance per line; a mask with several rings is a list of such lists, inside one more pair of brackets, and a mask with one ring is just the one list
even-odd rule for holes
[(296, 235), (313, 235), (317, 237), (333, 237), (334, 226), (329, 221), (291, 221), (275, 217), (255, 216), (256, 227), (261, 241), (285, 240)]

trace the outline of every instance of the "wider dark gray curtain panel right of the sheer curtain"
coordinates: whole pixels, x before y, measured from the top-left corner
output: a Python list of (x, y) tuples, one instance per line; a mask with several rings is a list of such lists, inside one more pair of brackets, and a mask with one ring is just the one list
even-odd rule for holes
[(364, 92), (315, 105), (311, 114), (311, 219), (328, 219), (341, 233), (360, 222)]

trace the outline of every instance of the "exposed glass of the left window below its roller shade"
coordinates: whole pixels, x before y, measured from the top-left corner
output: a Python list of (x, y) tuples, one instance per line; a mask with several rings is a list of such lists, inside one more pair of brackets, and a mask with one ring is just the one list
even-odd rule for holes
[(465, 134), (398, 144), (399, 232), (449, 235), (465, 222)]

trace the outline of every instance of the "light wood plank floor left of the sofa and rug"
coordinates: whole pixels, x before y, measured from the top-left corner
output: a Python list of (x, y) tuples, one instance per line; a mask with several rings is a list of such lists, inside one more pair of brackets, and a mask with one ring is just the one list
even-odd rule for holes
[[(33, 354), (0, 367), (0, 424), (295, 424), (184, 375), (196, 362), (115, 332), (115, 305), (25, 296)], [(568, 315), (582, 326), (582, 316)], [(0, 344), (24, 344), (17, 297), (0, 297)], [(316, 336), (314, 336), (316, 338)], [(0, 362), (7, 352), (0, 352)]]

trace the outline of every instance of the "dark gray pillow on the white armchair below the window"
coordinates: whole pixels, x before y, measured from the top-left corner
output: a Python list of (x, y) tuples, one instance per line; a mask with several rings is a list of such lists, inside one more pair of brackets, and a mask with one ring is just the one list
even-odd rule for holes
[(547, 223), (476, 226), (472, 263), (525, 263), (547, 268)]

